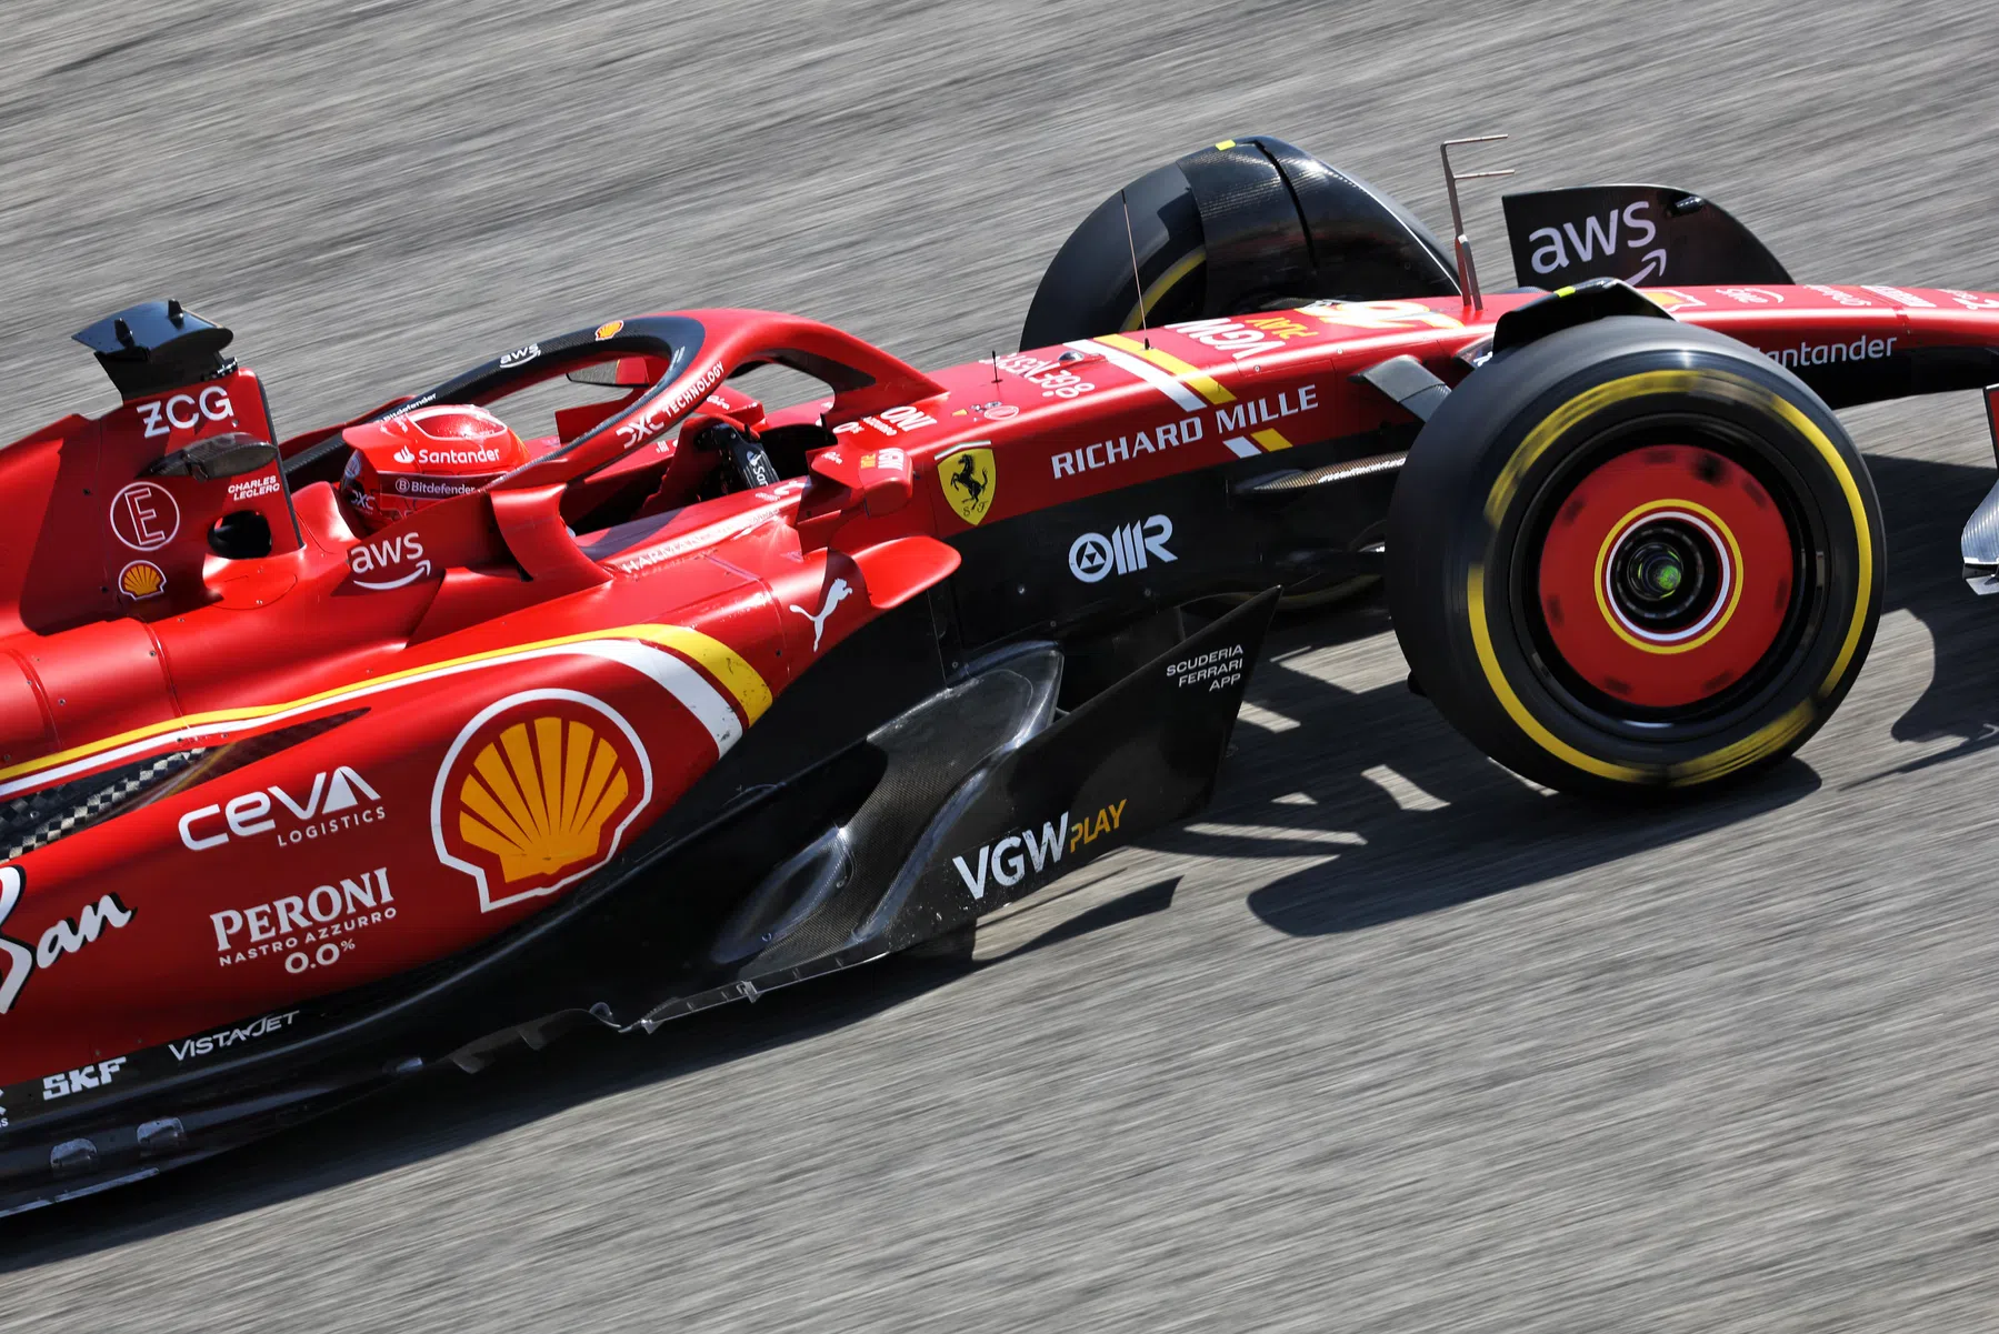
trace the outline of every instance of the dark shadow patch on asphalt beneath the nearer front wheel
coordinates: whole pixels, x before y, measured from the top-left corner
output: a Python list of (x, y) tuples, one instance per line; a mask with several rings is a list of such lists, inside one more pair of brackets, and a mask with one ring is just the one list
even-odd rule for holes
[[(1387, 629), (1377, 605), (1353, 619)], [(1249, 895), (1249, 909), (1289, 935), (1363, 931), (1587, 871), (1759, 819), (1819, 787), (1793, 759), (1681, 807), (1547, 793), (1487, 761), (1411, 695), (1391, 637), (1365, 645), (1377, 659), (1367, 675), (1395, 679), (1361, 691), (1313, 673), (1323, 647), (1309, 625), (1279, 627), (1215, 803), (1147, 841), (1199, 857), (1311, 859)]]

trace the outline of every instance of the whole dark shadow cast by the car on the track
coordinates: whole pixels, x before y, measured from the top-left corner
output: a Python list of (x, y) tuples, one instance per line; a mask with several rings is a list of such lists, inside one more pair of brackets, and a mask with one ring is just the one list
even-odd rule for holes
[[(1957, 531), (1989, 471), (1899, 457), (1871, 459), (1871, 469), (1891, 535), (1887, 607), (1923, 619), (1937, 645), (1935, 675), (1893, 735), (1957, 737), (1959, 747), (1919, 761), (1947, 763), (1999, 735), (1989, 681), (1999, 599), (1971, 597), (1957, 579)], [(1387, 631), (1379, 597), (1279, 625), (1213, 805), (1143, 845), (1199, 857), (1309, 857), (1305, 869), (1255, 889), (1249, 907), (1279, 931), (1333, 935), (1609, 867), (1635, 851), (1755, 821), (1819, 787), (1817, 773), (1793, 759), (1679, 809), (1619, 811), (1545, 795), (1485, 761), (1407, 691)], [(1335, 661), (1321, 677), (1311, 659), (1323, 651), (1335, 651), (1325, 653)], [(1355, 675), (1367, 685), (1339, 683)], [(892, 959), (772, 993), (756, 1006), (724, 1006), (652, 1038), (590, 1030), (472, 1078), (440, 1070), (160, 1180), (4, 1220), (0, 1272), (410, 1168), (596, 1098), (810, 1042), (974, 967), (1005, 967), (1045, 945), (1167, 911), (1173, 889), (1173, 881), (1135, 889), (986, 965)]]

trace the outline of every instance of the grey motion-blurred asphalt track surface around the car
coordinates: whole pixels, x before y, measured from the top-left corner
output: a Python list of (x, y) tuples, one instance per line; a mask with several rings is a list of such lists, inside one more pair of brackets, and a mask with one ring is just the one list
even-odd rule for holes
[[(1999, 288), (1981, 6), (18, 4), (6, 433), (174, 294), (296, 429), (616, 314), (1009, 347), (1123, 180), (1275, 132), (1443, 230), (1435, 142), (1653, 178), (1805, 280)], [(1503, 278), (1497, 190), (1473, 192)], [(1613, 815), (1285, 625), (1221, 795), (992, 925), (0, 1224), (32, 1330), (1999, 1324), (1999, 607), (1973, 397), (1851, 413), (1889, 609), (1749, 791)], [(1999, 601), (1999, 599), (1995, 599)]]

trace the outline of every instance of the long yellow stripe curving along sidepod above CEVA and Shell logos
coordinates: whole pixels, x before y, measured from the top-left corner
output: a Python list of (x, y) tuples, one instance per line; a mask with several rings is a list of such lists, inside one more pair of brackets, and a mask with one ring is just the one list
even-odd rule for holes
[(476, 667), (482, 663), (496, 663), (510, 657), (520, 657), (526, 653), (540, 653), (546, 649), (560, 649), (572, 643), (586, 643), (592, 639), (642, 639), (662, 649), (672, 649), (688, 659), (694, 659), (704, 667), (722, 689), (726, 689), (742, 707), (744, 723), (756, 723), (772, 703), (770, 683), (764, 681), (762, 673), (748, 663), (736, 649), (722, 643), (712, 635), (704, 635), (698, 629), (688, 629), (686, 625), (620, 625), (614, 629), (590, 631), (584, 635), (562, 635), (560, 639), (538, 639), (534, 643), (518, 643), (506, 649), (490, 649), (486, 653), (466, 653), (464, 657), (450, 657), (438, 663), (426, 663), (424, 667), (410, 667), (404, 671), (390, 671), (380, 677), (370, 677), (366, 681), (350, 681), (328, 691), (318, 691), (314, 695), (304, 695), (300, 699), (288, 699), (276, 705), (248, 705), (242, 709), (210, 709), (208, 713), (184, 713), (174, 719), (160, 723), (148, 723), (146, 727), (134, 727), (122, 731), (116, 737), (104, 737), (88, 745), (70, 747), (68, 751), (56, 751), (54, 755), (42, 755), (38, 759), (24, 761), (20, 765), (8, 765), (0, 769), (0, 783), (8, 779), (18, 779), (24, 775), (40, 773), (44, 769), (56, 769), (60, 765), (70, 765), (104, 751), (116, 751), (120, 747), (136, 745), (152, 737), (166, 737), (170, 733), (200, 731), (204, 727), (224, 727), (228, 723), (258, 723), (264, 719), (278, 717), (282, 713), (298, 713), (304, 709), (314, 709), (318, 705), (336, 703), (350, 695), (376, 693), (394, 685), (414, 685), (428, 677), (440, 677), (466, 667)]

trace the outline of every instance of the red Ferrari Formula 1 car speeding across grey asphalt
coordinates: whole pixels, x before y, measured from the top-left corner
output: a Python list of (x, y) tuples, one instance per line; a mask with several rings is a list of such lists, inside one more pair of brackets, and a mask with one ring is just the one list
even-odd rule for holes
[[(1795, 286), (1681, 190), (1507, 218), (1535, 288), (1483, 294), (1231, 140), (1085, 220), (1017, 353), (654, 314), (292, 437), (226, 330), (90, 326), (120, 405), (0, 451), (0, 1208), (962, 945), (1207, 797), (1279, 597), (1385, 577), (1539, 783), (1777, 763), (1881, 599), (1833, 409), (1999, 381), (1999, 298)], [(560, 377), (552, 435), (490, 413)]]

